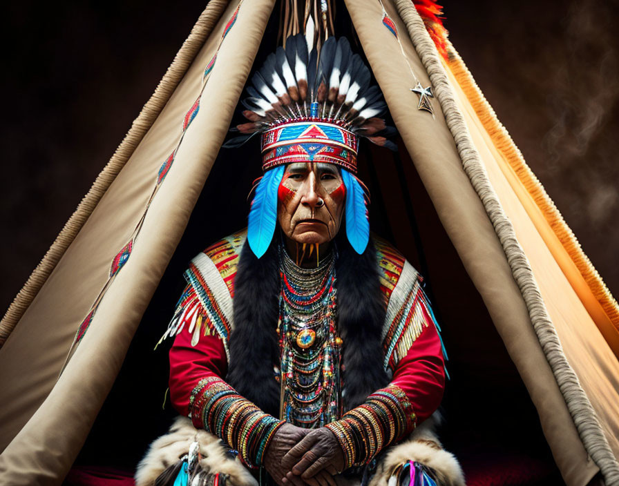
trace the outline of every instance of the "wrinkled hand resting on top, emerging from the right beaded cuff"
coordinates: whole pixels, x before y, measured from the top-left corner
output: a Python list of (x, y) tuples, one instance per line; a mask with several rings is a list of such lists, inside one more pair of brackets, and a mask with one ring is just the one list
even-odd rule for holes
[(314, 429), (284, 456), (289, 472), (284, 486), (335, 486), (332, 476), (344, 468), (344, 452), (334, 434), (324, 427)]

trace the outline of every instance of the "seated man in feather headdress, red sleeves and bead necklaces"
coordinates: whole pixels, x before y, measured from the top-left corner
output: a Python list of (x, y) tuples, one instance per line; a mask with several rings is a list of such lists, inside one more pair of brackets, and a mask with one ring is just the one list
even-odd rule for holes
[[(166, 332), (175, 336), (171, 400), (195, 427), (177, 425), (167, 443), (183, 443), (182, 427), (213, 435), (196, 436), (164, 476), (251, 482), (212, 451), (209, 463), (216, 436), (260, 480), (266, 471), (283, 486), (334, 486), (341, 473), (374, 472), (458, 483), (461, 472), (449, 476), (406, 450), (379, 460), (377, 472), (381, 452), (437, 409), (445, 382), (421, 278), (370, 236), (354, 175), (359, 136), (387, 144), (375, 118), (385, 108), (380, 91), (346, 39), (333, 37), (320, 57), (305, 37), (290, 37), (252, 81), (250, 122), (238, 129), (261, 134), (265, 174), (249, 227), (192, 260)], [(141, 469), (137, 484), (149, 484)]]

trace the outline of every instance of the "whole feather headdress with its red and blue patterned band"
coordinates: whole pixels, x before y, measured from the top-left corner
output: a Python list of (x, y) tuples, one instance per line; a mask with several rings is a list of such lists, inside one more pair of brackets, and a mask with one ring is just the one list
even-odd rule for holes
[[(356, 172), (359, 137), (395, 148), (385, 137), (391, 130), (379, 118), (387, 105), (378, 86), (370, 86), (370, 70), (361, 56), (352, 52), (348, 40), (329, 37), (318, 54), (312, 47), (313, 28), (310, 27), (308, 25), (310, 34), (307, 36), (288, 37), (286, 47), (278, 47), (251, 77), (251, 86), (247, 88), (249, 97), (241, 101), (246, 108), (243, 115), (249, 121), (236, 127), (240, 135), (225, 146), (240, 146), (250, 137), (262, 134), (263, 168), (266, 170), (291, 162), (291, 157), (303, 158), (303, 150), (289, 153), (294, 152), (294, 147), (283, 150), (280, 142), (332, 138), (343, 148), (352, 150), (352, 154), (345, 154), (348, 162), (343, 165)], [(304, 127), (312, 128), (316, 122), (318, 131), (304, 133)], [(293, 124), (295, 129), (289, 130)], [(330, 133), (321, 134), (324, 128)], [(274, 142), (280, 150), (269, 153)], [(278, 159), (284, 152), (288, 157)], [(304, 160), (310, 158), (314, 159), (307, 155)], [(336, 163), (334, 160), (328, 162)]]

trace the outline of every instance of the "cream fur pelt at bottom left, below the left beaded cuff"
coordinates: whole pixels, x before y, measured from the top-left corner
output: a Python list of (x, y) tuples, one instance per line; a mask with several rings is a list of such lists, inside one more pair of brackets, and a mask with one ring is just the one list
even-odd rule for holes
[[(258, 481), (240, 463), (232, 458), (218, 437), (193, 427), (187, 417), (175, 419), (168, 434), (151, 444), (146, 456), (137, 465), (135, 486), (155, 486), (166, 469), (174, 467), (179, 458), (189, 452), (194, 441), (200, 445), (200, 469), (204, 473), (227, 474), (227, 483), (234, 486), (258, 486)], [(172, 478), (173, 481), (173, 478)], [(171, 484), (171, 483), (170, 483)]]

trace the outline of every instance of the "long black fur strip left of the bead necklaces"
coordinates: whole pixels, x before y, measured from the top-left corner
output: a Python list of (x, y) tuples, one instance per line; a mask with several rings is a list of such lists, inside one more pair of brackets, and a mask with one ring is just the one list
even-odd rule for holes
[(280, 386), (273, 367), (279, 360), (276, 244), (257, 258), (245, 242), (234, 279), (234, 331), (230, 333), (227, 381), (272, 416), (279, 415)]

